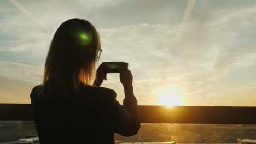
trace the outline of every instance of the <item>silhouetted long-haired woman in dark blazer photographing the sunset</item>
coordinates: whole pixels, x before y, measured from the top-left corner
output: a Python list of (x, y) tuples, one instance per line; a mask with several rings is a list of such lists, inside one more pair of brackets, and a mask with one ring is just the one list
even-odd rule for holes
[(100, 35), (90, 22), (70, 19), (57, 29), (46, 57), (43, 84), (30, 95), (41, 144), (115, 143), (114, 133), (137, 134), (141, 125), (128, 64), (120, 70), (125, 92), (122, 106), (113, 89), (100, 87), (107, 80), (104, 65), (95, 74), (101, 51)]

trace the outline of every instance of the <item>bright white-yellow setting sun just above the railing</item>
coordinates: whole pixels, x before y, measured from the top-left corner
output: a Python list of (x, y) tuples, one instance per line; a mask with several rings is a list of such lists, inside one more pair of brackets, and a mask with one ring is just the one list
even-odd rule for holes
[(167, 85), (154, 90), (154, 103), (168, 107), (182, 105), (182, 97), (185, 95), (184, 89), (178, 85)]

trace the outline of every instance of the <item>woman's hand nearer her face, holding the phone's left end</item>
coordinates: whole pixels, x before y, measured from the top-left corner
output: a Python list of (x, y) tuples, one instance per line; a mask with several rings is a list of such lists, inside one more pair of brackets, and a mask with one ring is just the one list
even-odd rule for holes
[(101, 64), (96, 71), (94, 86), (101, 86), (101, 83), (103, 82), (103, 80), (107, 80), (107, 73), (106, 73), (105, 65)]

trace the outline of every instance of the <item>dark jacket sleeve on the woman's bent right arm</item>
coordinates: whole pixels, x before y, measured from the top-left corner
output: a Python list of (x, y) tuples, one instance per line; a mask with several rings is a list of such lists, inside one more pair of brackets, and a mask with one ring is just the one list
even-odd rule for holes
[(110, 111), (113, 112), (114, 133), (123, 136), (136, 135), (141, 128), (137, 99), (134, 95), (129, 95), (130, 97), (124, 99), (124, 105), (120, 105), (115, 99), (117, 93), (113, 90), (111, 93), (114, 95), (114, 99), (110, 102)]

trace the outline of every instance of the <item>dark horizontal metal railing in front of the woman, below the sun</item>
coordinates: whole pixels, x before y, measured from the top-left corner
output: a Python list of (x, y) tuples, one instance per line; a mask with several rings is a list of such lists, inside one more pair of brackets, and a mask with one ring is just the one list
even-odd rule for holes
[[(0, 104), (0, 120), (33, 121), (31, 104)], [(256, 124), (256, 107), (139, 105), (141, 123)]]

